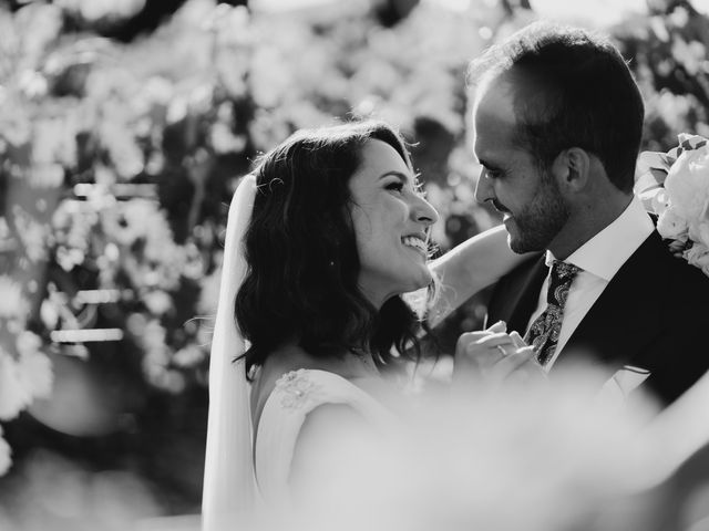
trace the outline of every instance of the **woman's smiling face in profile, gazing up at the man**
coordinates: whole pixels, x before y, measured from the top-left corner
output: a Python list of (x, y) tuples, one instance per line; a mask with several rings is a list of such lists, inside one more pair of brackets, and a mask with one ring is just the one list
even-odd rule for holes
[(364, 295), (380, 308), (392, 295), (427, 287), (428, 228), (439, 216), (397, 150), (369, 140), (349, 187)]

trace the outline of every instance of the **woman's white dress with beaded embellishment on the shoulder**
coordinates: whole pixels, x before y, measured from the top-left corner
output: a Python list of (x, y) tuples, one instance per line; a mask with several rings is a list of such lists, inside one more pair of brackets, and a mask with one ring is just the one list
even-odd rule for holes
[(374, 431), (392, 428), (393, 414), (343, 377), (319, 369), (291, 371), (281, 376), (264, 405), (255, 442), (255, 472), (265, 504), (288, 504), (288, 485), (298, 436), (316, 408), (346, 405)]

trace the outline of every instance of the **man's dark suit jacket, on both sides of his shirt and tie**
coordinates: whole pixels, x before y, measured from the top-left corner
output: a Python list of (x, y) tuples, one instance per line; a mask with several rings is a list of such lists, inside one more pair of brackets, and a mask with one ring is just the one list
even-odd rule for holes
[[(544, 256), (504, 277), (487, 306), (487, 323), (502, 320), (524, 335), (547, 274)], [(665, 404), (709, 369), (709, 277), (674, 257), (654, 231), (623, 264), (564, 345), (549, 377), (568, 362), (650, 371), (644, 387)]]

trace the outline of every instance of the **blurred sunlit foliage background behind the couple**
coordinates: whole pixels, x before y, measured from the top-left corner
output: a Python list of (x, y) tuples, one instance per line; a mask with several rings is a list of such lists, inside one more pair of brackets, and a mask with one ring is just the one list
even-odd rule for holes
[[(709, 136), (709, 1), (13, 0), (0, 6), (0, 529), (196, 529), (228, 204), (292, 131), (412, 142), (441, 252), (475, 204), (465, 70), (538, 18), (609, 33), (645, 149)], [(481, 326), (479, 299), (438, 330)]]

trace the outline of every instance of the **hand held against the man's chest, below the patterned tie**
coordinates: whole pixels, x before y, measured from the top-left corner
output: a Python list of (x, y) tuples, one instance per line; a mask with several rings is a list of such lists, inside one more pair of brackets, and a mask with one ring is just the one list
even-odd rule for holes
[(460, 336), (455, 347), (453, 384), (471, 385), (471, 379), (497, 387), (505, 383), (543, 379), (546, 374), (534, 351), (520, 334), (506, 333), (504, 322)]

